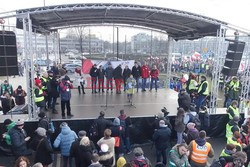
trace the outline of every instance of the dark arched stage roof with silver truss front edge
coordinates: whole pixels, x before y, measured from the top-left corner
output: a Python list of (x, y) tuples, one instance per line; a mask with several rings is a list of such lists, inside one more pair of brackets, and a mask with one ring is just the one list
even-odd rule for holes
[[(70, 4), (16, 11), (17, 15), (27, 13), (37, 32), (77, 25), (123, 24), (160, 30), (178, 40), (215, 36), (220, 25), (227, 25), (185, 11), (129, 4)], [(22, 28), (21, 21), (17, 19), (17, 28)]]

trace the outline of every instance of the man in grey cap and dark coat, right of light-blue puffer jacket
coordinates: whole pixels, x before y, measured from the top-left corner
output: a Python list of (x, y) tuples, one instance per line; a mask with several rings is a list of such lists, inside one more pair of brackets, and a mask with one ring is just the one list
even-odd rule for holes
[[(86, 134), (87, 133), (84, 130), (79, 131), (78, 132), (78, 139), (76, 141), (74, 141), (70, 147), (70, 157), (75, 158), (75, 166), (76, 167), (81, 167), (80, 166), (81, 161), (80, 161), (78, 149), (79, 149), (80, 142), (81, 142), (82, 138), (85, 137)], [(90, 140), (90, 147), (91, 147), (91, 150), (96, 150), (95, 144), (91, 140)]]

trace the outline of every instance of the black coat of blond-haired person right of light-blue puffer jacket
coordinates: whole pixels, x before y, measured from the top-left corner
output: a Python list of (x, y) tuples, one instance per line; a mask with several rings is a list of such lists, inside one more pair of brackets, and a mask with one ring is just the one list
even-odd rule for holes
[(84, 167), (84, 166), (89, 166), (91, 164), (91, 156), (92, 156), (92, 148), (90, 145), (88, 146), (83, 146), (80, 145), (78, 148), (78, 157), (80, 160), (80, 166), (79, 167)]

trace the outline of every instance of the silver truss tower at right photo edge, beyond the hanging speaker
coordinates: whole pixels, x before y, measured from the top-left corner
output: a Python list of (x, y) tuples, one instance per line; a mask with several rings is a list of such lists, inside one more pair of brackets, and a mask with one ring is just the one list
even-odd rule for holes
[(240, 100), (240, 105), (239, 105), (239, 112), (244, 113), (245, 109), (248, 109), (246, 106), (246, 102), (249, 99), (249, 91), (250, 91), (250, 37), (247, 37), (246, 41), (246, 47), (245, 51), (243, 53), (243, 60), (245, 62), (244, 64), (244, 71), (241, 76), (241, 84), (242, 84), (242, 89), (241, 89), (241, 100)]

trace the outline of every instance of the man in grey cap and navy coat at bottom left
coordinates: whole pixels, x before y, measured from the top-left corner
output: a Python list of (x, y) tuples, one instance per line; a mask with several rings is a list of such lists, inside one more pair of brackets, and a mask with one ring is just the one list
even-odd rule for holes
[(23, 129), (24, 121), (18, 120), (16, 125), (10, 129), (9, 135), (11, 139), (11, 148), (16, 157), (31, 155), (31, 151), (28, 150), (26, 142), (30, 140), (30, 137), (26, 136), (26, 132)]

